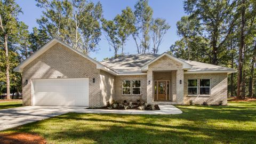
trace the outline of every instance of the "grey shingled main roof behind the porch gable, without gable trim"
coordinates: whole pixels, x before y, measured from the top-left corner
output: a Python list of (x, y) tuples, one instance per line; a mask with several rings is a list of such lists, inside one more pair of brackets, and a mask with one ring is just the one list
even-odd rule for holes
[[(143, 67), (150, 65), (150, 63), (154, 62), (163, 55), (170, 54), (131, 54), (118, 58), (111, 58), (105, 61), (101, 61), (101, 63), (120, 74), (141, 73)], [(235, 73), (237, 71), (233, 68), (211, 65), (203, 62), (183, 59), (179, 60), (188, 63), (188, 66), (191, 66), (190, 68), (187, 68), (185, 73)]]

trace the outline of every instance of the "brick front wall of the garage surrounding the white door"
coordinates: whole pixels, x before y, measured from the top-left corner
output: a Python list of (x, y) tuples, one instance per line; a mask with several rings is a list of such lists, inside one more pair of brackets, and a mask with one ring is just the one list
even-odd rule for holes
[[(32, 105), (31, 79), (89, 78), (89, 105), (102, 106), (100, 97), (100, 70), (96, 64), (57, 43), (29, 63), (22, 73), (23, 105)], [(95, 78), (95, 83), (92, 82)], [(26, 84), (26, 79), (28, 83)]]

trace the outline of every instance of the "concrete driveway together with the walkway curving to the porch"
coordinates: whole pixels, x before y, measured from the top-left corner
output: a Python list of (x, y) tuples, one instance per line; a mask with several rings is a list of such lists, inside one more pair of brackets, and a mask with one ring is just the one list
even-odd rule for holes
[(86, 109), (87, 107), (71, 106), (27, 106), (0, 110), (0, 131), (23, 124), (41, 121), (53, 116), (75, 113), (103, 113), (103, 114), (147, 114), (172, 115), (182, 111), (172, 105), (158, 105), (161, 110), (114, 110), (114, 109)]

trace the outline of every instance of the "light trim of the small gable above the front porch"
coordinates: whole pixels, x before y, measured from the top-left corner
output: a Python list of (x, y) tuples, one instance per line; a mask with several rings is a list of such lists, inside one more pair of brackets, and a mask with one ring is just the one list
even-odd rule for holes
[(146, 63), (146, 65), (142, 66), (142, 67), (141, 67), (141, 71), (147, 71), (147, 70), (148, 70), (148, 66), (149, 66), (151, 63), (154, 63), (155, 61), (161, 59), (161, 58), (164, 57), (164, 56), (166, 56), (167, 58), (170, 58), (170, 59), (172, 59), (172, 60), (174, 60), (174, 61), (177, 61), (178, 63), (181, 63), (181, 64), (182, 64), (182, 68), (185, 69), (185, 70), (192, 68), (192, 66), (189, 65), (189, 63), (187, 63), (187, 62), (185, 62), (185, 61), (182, 61), (182, 60), (180, 60), (180, 59), (178, 59), (178, 58), (175, 58), (175, 57), (173, 57), (172, 55), (170, 55), (170, 54), (164, 52), (163, 54), (159, 55), (159, 56), (156, 57), (155, 59), (153, 59), (153, 60), (149, 61), (148, 63)]

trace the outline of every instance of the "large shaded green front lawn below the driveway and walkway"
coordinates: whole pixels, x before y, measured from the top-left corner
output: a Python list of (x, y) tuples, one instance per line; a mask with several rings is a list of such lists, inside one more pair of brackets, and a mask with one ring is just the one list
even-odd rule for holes
[(180, 115), (78, 114), (4, 132), (42, 135), (48, 143), (256, 143), (256, 102), (177, 106)]

